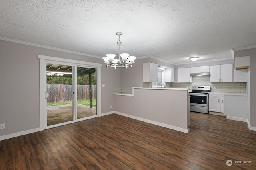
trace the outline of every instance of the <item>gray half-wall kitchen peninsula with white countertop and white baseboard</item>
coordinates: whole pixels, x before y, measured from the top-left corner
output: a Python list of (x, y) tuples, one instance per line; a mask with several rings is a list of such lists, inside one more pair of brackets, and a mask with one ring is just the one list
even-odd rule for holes
[(132, 88), (132, 94), (114, 93), (115, 113), (189, 133), (187, 88)]

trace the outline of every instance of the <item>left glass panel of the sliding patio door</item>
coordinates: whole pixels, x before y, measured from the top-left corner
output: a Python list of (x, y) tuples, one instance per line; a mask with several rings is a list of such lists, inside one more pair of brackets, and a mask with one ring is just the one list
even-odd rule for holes
[(46, 63), (47, 126), (73, 121), (74, 66)]

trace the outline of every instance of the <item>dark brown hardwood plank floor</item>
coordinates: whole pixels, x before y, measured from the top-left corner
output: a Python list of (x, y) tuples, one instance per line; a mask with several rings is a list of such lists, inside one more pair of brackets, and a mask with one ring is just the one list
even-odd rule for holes
[(202, 113), (191, 113), (188, 134), (112, 114), (0, 145), (1, 170), (256, 169), (256, 131), (245, 122)]

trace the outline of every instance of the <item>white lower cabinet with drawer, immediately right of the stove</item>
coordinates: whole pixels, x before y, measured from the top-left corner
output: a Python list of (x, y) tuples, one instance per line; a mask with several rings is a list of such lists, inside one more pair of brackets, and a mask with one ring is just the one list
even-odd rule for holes
[(209, 111), (224, 113), (224, 94), (209, 94)]

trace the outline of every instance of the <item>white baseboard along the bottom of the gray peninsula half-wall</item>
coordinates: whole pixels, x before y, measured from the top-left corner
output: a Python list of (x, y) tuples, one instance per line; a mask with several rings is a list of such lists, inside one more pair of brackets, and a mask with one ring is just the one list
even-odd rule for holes
[(129, 118), (132, 118), (132, 119), (136, 119), (136, 120), (139, 120), (139, 121), (144, 121), (146, 123), (150, 123), (150, 124), (153, 124), (153, 125), (158, 125), (158, 126), (161, 126), (161, 127), (166, 127), (168, 129), (175, 130), (175, 131), (180, 131), (180, 132), (183, 132), (183, 133), (189, 133), (189, 131), (190, 131), (189, 128), (188, 129), (183, 129), (183, 128), (180, 128), (180, 127), (176, 127), (176, 126), (172, 126), (172, 125), (167, 125), (167, 124), (160, 123), (160, 122), (157, 122), (157, 121), (152, 121), (152, 120), (148, 120), (148, 119), (144, 119), (144, 118), (128, 115), (128, 114), (121, 113), (121, 112), (118, 112), (118, 111), (114, 111), (114, 113), (116, 113), (118, 115), (125, 116), (125, 117), (129, 117)]

